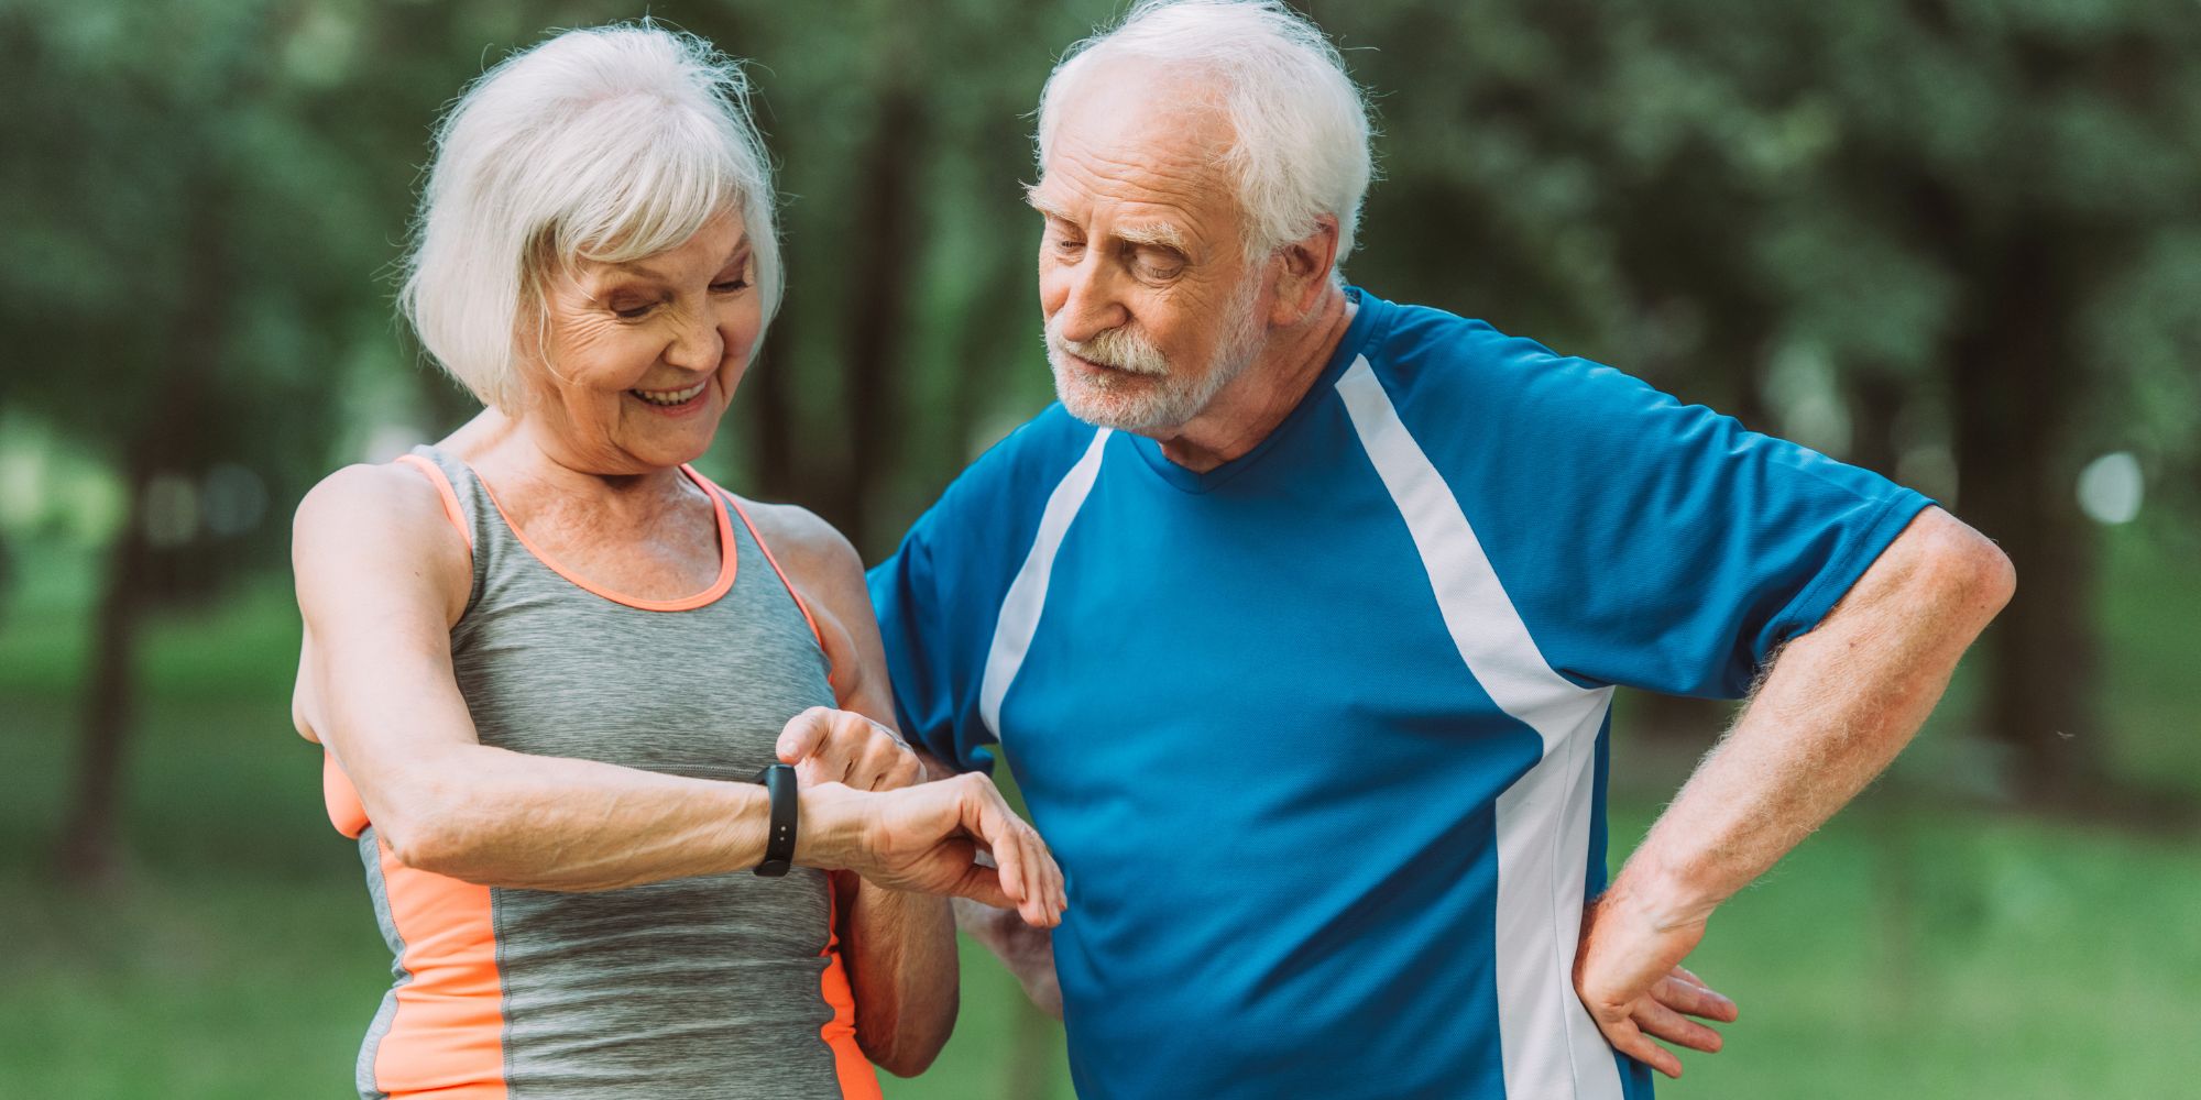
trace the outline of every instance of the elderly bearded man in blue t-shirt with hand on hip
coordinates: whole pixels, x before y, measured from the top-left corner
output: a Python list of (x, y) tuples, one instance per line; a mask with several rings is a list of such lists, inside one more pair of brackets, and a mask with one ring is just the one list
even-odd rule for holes
[[(1712, 911), (2010, 598), (1886, 480), (1338, 264), (1367, 117), (1277, 2), (1147, 2), (1039, 112), (1061, 405), (872, 572), (902, 728), (1008, 750), (1089, 1098), (1640, 1098)], [(1605, 880), (1616, 684), (1752, 704)], [(1587, 902), (1587, 904), (1585, 904)]]

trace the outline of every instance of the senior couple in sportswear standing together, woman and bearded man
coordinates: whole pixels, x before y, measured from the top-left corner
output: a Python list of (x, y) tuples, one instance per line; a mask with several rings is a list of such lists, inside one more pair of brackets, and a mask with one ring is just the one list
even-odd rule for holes
[[(2007, 561), (1347, 286), (1367, 110), (1281, 2), (1138, 4), (1037, 150), (1061, 403), (865, 576), (689, 466), (781, 293), (733, 62), (568, 31), (445, 119), (403, 304), (489, 411), (295, 530), (295, 717), (394, 961), (361, 1096), (878, 1096), (957, 915), (1087, 1098), (1642, 1098), (1719, 1049), (1708, 917)], [(1607, 880), (1618, 684), (1752, 704)]]

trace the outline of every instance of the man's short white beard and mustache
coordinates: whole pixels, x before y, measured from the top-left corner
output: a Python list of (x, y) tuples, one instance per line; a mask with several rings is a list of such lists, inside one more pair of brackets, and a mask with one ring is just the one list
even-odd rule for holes
[[(1054, 396), (1070, 416), (1096, 427), (1142, 436), (1182, 429), (1200, 416), (1215, 394), (1246, 374), (1261, 354), (1261, 323), (1255, 301), (1261, 297), (1261, 275), (1250, 273), (1224, 308), (1224, 334), (1206, 372), (1189, 372), (1169, 363), (1142, 332), (1109, 328), (1087, 341), (1065, 339), (1063, 315), (1048, 319), (1048, 365), (1054, 367)], [(1076, 367), (1067, 356), (1125, 372), (1100, 374)]]

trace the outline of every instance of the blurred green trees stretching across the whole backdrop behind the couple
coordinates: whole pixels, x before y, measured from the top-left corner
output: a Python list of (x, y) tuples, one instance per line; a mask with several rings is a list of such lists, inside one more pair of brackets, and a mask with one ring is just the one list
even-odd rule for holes
[[(808, 504), (878, 557), (1045, 405), (1030, 112), (1052, 59), (1118, 7), (651, 7), (755, 59), (781, 163), (788, 301), (713, 455), (731, 484)], [(2025, 790), (2098, 779), (2076, 473), (2133, 451), (2159, 497), (2201, 510), (2201, 70), (2177, 64), (2201, 9), (1303, 7), (1384, 130), (1356, 282), (1952, 504), (2023, 576), (1985, 642), (1983, 726)], [(0, 409), (106, 455), (130, 502), (62, 867), (112, 867), (141, 614), (280, 561), (275, 519), (379, 427), (436, 438), (473, 411), (409, 370), (390, 315), (436, 112), (508, 48), (634, 15), (0, 7)], [(253, 484), (269, 521), (216, 532), (213, 497)]]

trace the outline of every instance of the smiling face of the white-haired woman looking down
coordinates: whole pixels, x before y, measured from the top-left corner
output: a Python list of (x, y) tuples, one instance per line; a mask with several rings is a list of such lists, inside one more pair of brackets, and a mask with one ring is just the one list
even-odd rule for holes
[[(561, 464), (647, 473), (711, 447), (762, 328), (755, 257), (737, 213), (687, 244), (552, 275), (541, 354), (526, 356), (519, 420)], [(533, 328), (522, 319), (522, 328)], [(522, 348), (535, 345), (522, 332)]]

